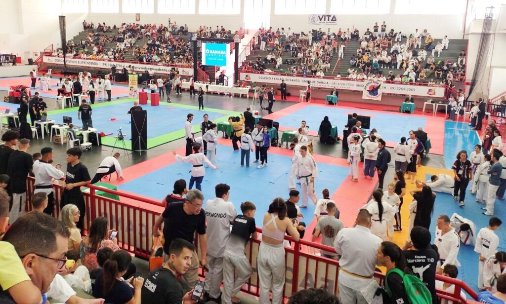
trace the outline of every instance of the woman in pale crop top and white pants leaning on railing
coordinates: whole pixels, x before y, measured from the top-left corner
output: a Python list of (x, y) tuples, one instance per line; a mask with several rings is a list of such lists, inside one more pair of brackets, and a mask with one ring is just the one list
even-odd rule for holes
[[(260, 302), (270, 303), (269, 288), (272, 285), (272, 303), (282, 301), (283, 286), (286, 278), (284, 236), (288, 232), (294, 241), (300, 234), (292, 221), (286, 216), (286, 203), (277, 197), (269, 205), (262, 226), (262, 242), (258, 254), (257, 266), (260, 280)], [(297, 245), (297, 244), (296, 244)]]

